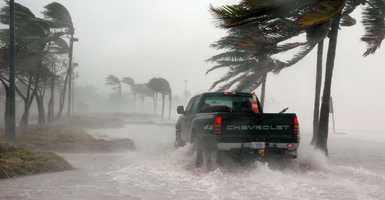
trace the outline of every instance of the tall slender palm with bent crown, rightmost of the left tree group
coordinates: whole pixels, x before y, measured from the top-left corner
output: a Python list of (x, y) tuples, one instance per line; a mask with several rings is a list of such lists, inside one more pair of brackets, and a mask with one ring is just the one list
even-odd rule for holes
[(68, 115), (71, 114), (71, 107), (72, 107), (72, 76), (73, 76), (73, 45), (74, 42), (78, 39), (74, 37), (75, 35), (75, 27), (72, 22), (72, 17), (70, 12), (67, 10), (65, 6), (63, 6), (60, 3), (53, 2), (48, 5), (46, 5), (45, 10), (43, 11), (44, 16), (51, 21), (53, 26), (58, 29), (65, 29), (65, 33), (69, 36), (69, 52), (68, 52), (68, 70), (65, 78), (65, 85), (63, 88), (63, 91), (61, 93), (61, 104), (60, 104), (60, 110), (58, 113), (58, 117), (61, 116), (61, 113), (64, 109), (64, 100), (67, 90), (67, 84), (68, 84)]

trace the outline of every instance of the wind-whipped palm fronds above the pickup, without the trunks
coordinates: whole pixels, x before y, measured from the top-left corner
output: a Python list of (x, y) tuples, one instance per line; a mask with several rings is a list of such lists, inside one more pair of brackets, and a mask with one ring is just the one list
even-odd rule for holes
[[(236, 5), (211, 11), (219, 26), (228, 35), (211, 47), (224, 52), (208, 59), (215, 62), (207, 72), (226, 68), (221, 79), (211, 89), (256, 89), (262, 77), (269, 72), (298, 63), (328, 36), (331, 21), (341, 16), (341, 26), (353, 26), (356, 20), (350, 14), (363, 5), (362, 40), (368, 44), (364, 55), (374, 53), (385, 37), (385, 2), (383, 0), (242, 0)], [(306, 41), (294, 41), (306, 34)], [(298, 38), (298, 37), (297, 37)], [(281, 53), (295, 51), (288, 60), (278, 59)]]

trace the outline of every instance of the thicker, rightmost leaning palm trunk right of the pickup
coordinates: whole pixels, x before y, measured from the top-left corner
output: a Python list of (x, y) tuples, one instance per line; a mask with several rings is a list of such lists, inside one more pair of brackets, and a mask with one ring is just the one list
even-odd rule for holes
[(329, 109), (330, 109), (330, 94), (333, 80), (334, 61), (336, 57), (338, 28), (341, 21), (340, 15), (338, 15), (332, 23), (332, 29), (330, 31), (328, 55), (326, 60), (326, 74), (324, 91), (322, 96), (321, 114), (319, 122), (319, 140), (316, 143), (316, 147), (322, 150), (328, 155), (328, 132), (329, 132)]

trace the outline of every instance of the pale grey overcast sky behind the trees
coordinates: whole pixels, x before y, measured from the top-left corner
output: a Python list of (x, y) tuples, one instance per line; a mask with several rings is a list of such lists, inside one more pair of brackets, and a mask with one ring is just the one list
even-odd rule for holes
[[(39, 13), (52, 1), (18, 1)], [(137, 82), (164, 77), (176, 93), (183, 80), (190, 89), (205, 91), (220, 74), (206, 76), (204, 60), (216, 52), (209, 44), (224, 32), (215, 27), (210, 3), (230, 0), (58, 0), (72, 13), (76, 35), (75, 59), (80, 64), (79, 83), (108, 88), (109, 74), (131, 76)], [(3, 4), (2, 4), (3, 5)], [(362, 57), (362, 27), (343, 28), (339, 37), (333, 80), (337, 128), (385, 130), (385, 48)], [(297, 112), (306, 128), (311, 126), (315, 52), (291, 69), (270, 75), (267, 110), (284, 107)]]

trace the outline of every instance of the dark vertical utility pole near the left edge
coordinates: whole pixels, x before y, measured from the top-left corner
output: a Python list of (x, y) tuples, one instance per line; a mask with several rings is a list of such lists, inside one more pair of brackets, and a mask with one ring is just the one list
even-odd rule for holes
[(16, 39), (15, 39), (15, 1), (9, 1), (9, 124), (7, 138), (11, 144), (16, 140)]

